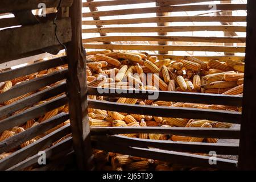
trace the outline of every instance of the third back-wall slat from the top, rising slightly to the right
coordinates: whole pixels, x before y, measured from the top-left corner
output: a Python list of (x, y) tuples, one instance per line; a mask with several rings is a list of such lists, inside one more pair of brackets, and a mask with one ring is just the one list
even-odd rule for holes
[[(150, 18), (85, 20), (84, 25), (138, 24), (164, 22), (246, 22), (246, 16), (159, 16)], [(142, 27), (144, 28), (144, 27)]]

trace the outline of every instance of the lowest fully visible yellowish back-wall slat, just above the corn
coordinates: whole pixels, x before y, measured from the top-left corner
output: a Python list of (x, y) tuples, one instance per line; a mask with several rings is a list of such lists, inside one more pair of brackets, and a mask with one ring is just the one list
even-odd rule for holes
[(143, 51), (207, 51), (207, 52), (245, 52), (245, 47), (233, 46), (161, 46), (138, 44), (83, 44), (86, 49), (116, 49)]

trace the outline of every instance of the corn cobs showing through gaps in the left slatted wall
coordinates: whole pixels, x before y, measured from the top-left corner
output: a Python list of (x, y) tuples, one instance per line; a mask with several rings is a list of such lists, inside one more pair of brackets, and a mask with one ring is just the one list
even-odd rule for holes
[[(31, 75), (14, 78), (13, 80), (6, 81), (6, 82), (1, 82), (0, 83), (0, 93), (3, 93), (3, 92), (6, 92), (7, 90), (10, 90), (11, 88), (13, 88), (13, 86), (18, 85), (18, 84), (20, 84), (22, 82), (26, 82), (26, 81), (32, 80), (34, 78), (46, 76), (47, 74), (50, 74), (50, 73), (53, 73), (53, 72), (56, 72), (56, 71), (60, 71), (60, 70), (63, 70), (65, 68), (67, 68), (67, 65), (63, 65), (61, 67), (56, 67), (56, 68), (50, 68), (50, 69), (47, 69), (47, 70), (44, 70), (44, 71), (40, 71), (40, 72), (37, 72), (37, 73), (32, 73)], [(55, 85), (61, 84), (61, 82), (64, 82), (64, 81), (65, 80), (61, 80), (61, 81), (55, 82), (54, 84), (51, 84), (51, 85), (48, 85), (48, 86), (44, 86), (43, 88), (40, 88), (39, 90), (36, 90), (36, 92), (40, 92), (40, 91), (42, 91), (44, 89), (51, 88), (51, 86), (55, 86)], [(34, 94), (36, 92), (30, 92), (30, 93), (24, 94), (24, 95), (16, 97), (16, 98), (12, 98), (9, 101), (1, 103), (0, 107), (13, 104), (14, 102), (16, 102), (18, 100), (21, 100), (21, 99), (23, 99), (25, 97), (31, 96), (32, 94)], [(54, 98), (60, 97), (63, 94), (65, 94), (65, 93), (59, 94), (58, 96), (55, 96), (55, 97), (48, 98), (45, 101), (40, 101), (40, 102), (36, 103), (34, 106), (38, 106), (38, 105), (43, 104), (43, 103), (45, 103), (47, 101), (50, 101), (50, 100), (52, 100)], [(34, 107), (34, 106), (32, 106), (32, 107)], [(25, 111), (25, 110), (27, 110), (29, 108), (30, 107), (25, 107), (24, 109), (15, 111), (15, 113), (13, 113), (11, 115), (15, 115), (15, 114), (21, 113), (21, 112), (23, 112), (23, 111)], [(6, 140), (6, 139), (8, 139), (10, 137), (13, 137), (14, 135), (16, 135), (18, 133), (22, 133), (23, 131), (25, 131), (27, 129), (30, 129), (31, 127), (39, 125), (40, 123), (46, 121), (47, 119), (49, 119), (49, 118), (51, 118), (51, 117), (53, 117), (53, 116), (55, 116), (55, 115), (57, 115), (59, 113), (62, 113), (62, 112), (68, 113), (68, 105), (64, 105), (64, 106), (61, 106), (59, 108), (53, 109), (53, 110), (48, 111), (46, 114), (44, 114), (44, 115), (42, 115), (42, 116), (40, 116), (38, 118), (33, 118), (33, 119), (28, 120), (23, 125), (15, 126), (12, 129), (10, 129), (10, 130), (3, 131), (3, 133), (0, 133), (0, 142), (4, 141), (4, 140)], [(8, 116), (6, 115), (5, 117), (0, 118), (0, 121), (2, 119), (5, 119), (5, 118), (9, 117), (9, 116), (10, 115), (8, 115)], [(56, 127), (52, 128), (51, 130), (48, 130), (45, 133), (43, 133), (43, 134), (41, 134), (41, 135), (31, 139), (31, 140), (28, 140), (28, 141), (20, 144), (19, 147), (13, 148), (13, 150), (11, 150), (9, 152), (5, 152), (3, 154), (0, 154), (0, 160), (3, 159), (3, 158), (6, 158), (7, 156), (9, 156), (11, 154), (13, 154), (13, 152), (15, 152), (16, 150), (19, 150), (20, 148), (26, 147), (29, 144), (31, 144), (33, 142), (36, 142), (36, 140), (46, 136), (47, 134), (52, 133), (53, 131), (59, 129), (60, 127), (62, 127), (64, 125), (67, 125), (68, 123), (69, 123), (69, 120), (65, 121), (64, 123), (61, 123), (60, 125), (57, 125)], [(52, 145), (59, 143), (61, 140), (67, 138), (68, 136), (65, 136), (65, 137), (61, 138), (60, 140), (57, 140), (56, 142), (52, 143)]]

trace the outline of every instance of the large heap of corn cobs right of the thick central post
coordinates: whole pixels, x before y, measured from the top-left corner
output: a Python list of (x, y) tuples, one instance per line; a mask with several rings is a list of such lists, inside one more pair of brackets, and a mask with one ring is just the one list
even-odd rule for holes
[[(195, 57), (184, 56), (180, 60), (158, 60), (156, 56), (147, 56), (135, 52), (112, 52), (110, 50), (92, 51), (87, 53), (87, 84), (102, 88), (163, 90), (195, 93), (216, 93), (242, 95), (244, 63), (228, 60), (221, 63), (217, 60), (207, 62)], [(132, 73), (138, 73), (134, 75)], [(144, 73), (144, 74), (142, 74)], [(152, 74), (151, 77), (145, 75)], [(102, 76), (102, 75), (105, 75)], [(114, 75), (114, 76), (113, 76)], [(152, 80), (148, 80), (151, 78)], [(158, 86), (152, 85), (156, 79)], [(129, 81), (127, 81), (129, 80)], [(129, 82), (133, 82), (131, 86)], [(106, 100), (104, 97), (89, 96), (94, 100)], [(170, 107), (193, 107), (200, 109), (241, 111), (241, 107), (226, 105), (205, 105), (181, 102), (139, 100), (135, 98), (114, 98), (112, 101), (121, 104), (139, 104)], [(225, 127), (231, 123), (209, 121), (205, 119), (182, 119), (155, 117), (154, 115), (140, 115), (133, 113), (118, 113), (89, 108), (89, 122), (92, 127)], [(165, 134), (121, 134), (126, 137), (172, 140), (182, 142), (216, 143), (216, 138), (183, 137)], [(203, 154), (200, 154), (203, 155)], [(173, 169), (166, 163), (155, 160), (137, 158), (94, 150), (94, 158), (98, 169), (138, 170), (138, 169)], [(106, 164), (104, 166), (104, 164)], [(153, 167), (153, 168), (152, 168)], [(175, 168), (175, 167), (174, 167)], [(176, 168), (175, 168), (176, 169)]]

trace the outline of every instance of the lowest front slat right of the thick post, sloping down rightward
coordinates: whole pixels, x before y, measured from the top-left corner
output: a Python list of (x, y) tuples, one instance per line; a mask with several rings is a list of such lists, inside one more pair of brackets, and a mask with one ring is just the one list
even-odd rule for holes
[(229, 159), (216, 158), (216, 165), (210, 165), (209, 156), (188, 154), (183, 152), (158, 150), (153, 148), (137, 148), (129, 147), (125, 145), (112, 145), (112, 143), (92, 142), (93, 148), (98, 150), (105, 150), (110, 152), (116, 152), (119, 154), (126, 154), (132, 156), (138, 156), (147, 159), (156, 159), (160, 161), (171, 162), (172, 164), (184, 164), (187, 166), (200, 166), (209, 168), (220, 169), (236, 169), (237, 161)]

